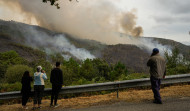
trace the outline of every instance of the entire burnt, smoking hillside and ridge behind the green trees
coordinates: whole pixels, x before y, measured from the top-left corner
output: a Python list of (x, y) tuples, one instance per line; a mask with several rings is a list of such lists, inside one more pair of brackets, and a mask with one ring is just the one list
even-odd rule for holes
[[(60, 36), (63, 39), (60, 39)], [(153, 41), (171, 47), (176, 46), (180, 53), (190, 60), (190, 46), (167, 39), (148, 37), (144, 39), (153, 39)], [(61, 52), (75, 59), (80, 59), (80, 57), (77, 58), (77, 54), (87, 57), (91, 57), (92, 54), (105, 59), (110, 64), (120, 61), (134, 72), (148, 72), (146, 62), (149, 54), (143, 48), (127, 44), (105, 45), (93, 40), (83, 40), (69, 34), (57, 33), (14, 21), (0, 20), (0, 47), (0, 52), (15, 50), (28, 61), (45, 58), (46, 54), (52, 53), (52, 51)], [(75, 54), (78, 51), (81, 53)], [(65, 55), (63, 56), (65, 57)]]

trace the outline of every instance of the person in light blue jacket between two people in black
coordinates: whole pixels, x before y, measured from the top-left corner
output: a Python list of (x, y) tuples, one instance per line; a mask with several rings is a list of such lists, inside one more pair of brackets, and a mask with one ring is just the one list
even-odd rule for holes
[[(37, 108), (41, 108), (41, 100), (44, 91), (44, 80), (47, 79), (47, 75), (45, 71), (42, 71), (42, 67), (37, 67), (37, 72), (34, 73), (34, 105), (33, 110)], [(38, 104), (38, 107), (36, 107)]]

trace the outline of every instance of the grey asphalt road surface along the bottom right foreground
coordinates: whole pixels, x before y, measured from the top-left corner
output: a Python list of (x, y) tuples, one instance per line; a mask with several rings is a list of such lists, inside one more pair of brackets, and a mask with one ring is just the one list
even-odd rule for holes
[(81, 109), (55, 109), (54, 111), (190, 111), (190, 97), (168, 98), (163, 104), (152, 101), (140, 103), (117, 102), (108, 105), (91, 106)]

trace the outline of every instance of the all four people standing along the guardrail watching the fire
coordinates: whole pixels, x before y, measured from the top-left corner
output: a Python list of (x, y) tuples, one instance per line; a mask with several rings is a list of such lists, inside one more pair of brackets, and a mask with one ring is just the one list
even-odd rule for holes
[[(166, 61), (159, 54), (159, 49), (154, 48), (152, 54), (147, 62), (147, 66), (150, 67), (150, 81), (151, 88), (154, 93), (153, 103), (162, 104), (160, 96), (160, 84), (161, 79), (166, 75)], [(44, 91), (44, 80), (47, 79), (47, 75), (41, 66), (37, 67), (37, 72), (34, 73), (34, 105), (33, 109), (41, 108), (42, 94)], [(28, 71), (23, 74), (22, 77), (22, 106), (27, 109), (26, 103), (29, 99), (31, 92), (32, 77)], [(51, 103), (50, 107), (58, 107), (57, 98), (63, 84), (63, 75), (60, 69), (60, 62), (56, 62), (56, 68), (51, 71), (50, 82), (52, 83)], [(54, 100), (54, 101), (53, 101)], [(38, 104), (38, 106), (37, 106)]]

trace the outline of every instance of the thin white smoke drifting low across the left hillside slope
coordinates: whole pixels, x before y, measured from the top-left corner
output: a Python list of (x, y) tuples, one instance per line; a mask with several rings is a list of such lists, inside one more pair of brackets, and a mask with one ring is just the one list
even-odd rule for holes
[[(37, 30), (35, 27), (17, 27), (26, 39), (26, 45), (43, 48), (47, 53), (65, 52), (72, 56), (85, 60), (87, 58), (94, 59), (95, 56), (90, 54), (86, 49), (76, 48), (72, 45), (64, 34), (49, 35), (43, 31)], [(18, 29), (17, 29), (18, 30)], [(63, 54), (65, 59), (70, 56)]]

